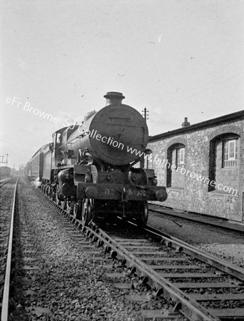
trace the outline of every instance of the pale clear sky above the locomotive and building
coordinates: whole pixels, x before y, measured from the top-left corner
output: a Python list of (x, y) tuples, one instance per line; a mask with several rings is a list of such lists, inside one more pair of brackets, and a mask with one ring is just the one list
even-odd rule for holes
[(18, 169), (108, 91), (146, 106), (151, 136), (243, 110), (243, 14), (243, 0), (1, 0), (0, 156)]

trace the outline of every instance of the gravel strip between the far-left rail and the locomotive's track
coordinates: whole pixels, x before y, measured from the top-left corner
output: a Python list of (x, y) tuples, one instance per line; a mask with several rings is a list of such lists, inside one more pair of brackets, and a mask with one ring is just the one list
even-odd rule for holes
[(101, 264), (79, 248), (45, 196), (28, 184), (19, 182), (21, 251), (23, 257), (25, 250), (36, 251), (31, 258), (39, 270), (16, 268), (16, 275), (34, 280), (14, 280), (11, 320), (141, 320), (141, 304), (126, 301), (124, 290), (105, 276), (103, 265), (112, 261), (102, 253)]

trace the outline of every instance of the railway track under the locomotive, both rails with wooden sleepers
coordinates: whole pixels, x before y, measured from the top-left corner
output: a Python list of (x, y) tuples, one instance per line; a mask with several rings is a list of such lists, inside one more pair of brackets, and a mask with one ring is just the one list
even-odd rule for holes
[[(50, 200), (50, 199), (49, 199)], [(173, 312), (188, 320), (244, 320), (244, 269), (204, 253), (192, 245), (134, 223), (82, 225), (66, 210), (51, 203), (82, 233), (103, 246), (112, 258), (121, 260), (153, 289), (166, 298)], [(122, 275), (119, 275), (122, 277)], [(166, 315), (161, 310), (142, 310), (144, 320)]]

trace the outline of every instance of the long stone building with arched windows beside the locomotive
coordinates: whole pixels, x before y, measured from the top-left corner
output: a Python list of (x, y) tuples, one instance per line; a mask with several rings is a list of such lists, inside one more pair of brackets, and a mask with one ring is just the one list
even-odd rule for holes
[(244, 111), (151, 136), (145, 167), (166, 185), (162, 205), (244, 220)]

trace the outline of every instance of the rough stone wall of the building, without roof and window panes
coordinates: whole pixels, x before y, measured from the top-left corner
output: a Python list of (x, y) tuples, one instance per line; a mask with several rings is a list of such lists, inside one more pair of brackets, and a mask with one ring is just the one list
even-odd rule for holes
[[(162, 205), (230, 220), (244, 220), (244, 120), (225, 121), (221, 125), (212, 123), (193, 129), (190, 127), (185, 128), (183, 133), (174, 131), (172, 134), (162, 134), (161, 138), (152, 137), (148, 143), (148, 148), (153, 152), (153, 168), (158, 176), (158, 185), (167, 187), (168, 200)], [(229, 134), (238, 136), (237, 168), (221, 168), (220, 164), (222, 147), (216, 143), (217, 138)], [(185, 163), (182, 166), (185, 173), (183, 169), (177, 172), (177, 175), (182, 175), (183, 188), (181, 183), (179, 186), (171, 184), (172, 178), (176, 181), (176, 176), (172, 176), (166, 165), (174, 144), (185, 146)], [(215, 153), (211, 152), (213, 146)], [(227, 193), (210, 186), (213, 178), (216, 183), (237, 190), (237, 195), (233, 190)]]

